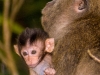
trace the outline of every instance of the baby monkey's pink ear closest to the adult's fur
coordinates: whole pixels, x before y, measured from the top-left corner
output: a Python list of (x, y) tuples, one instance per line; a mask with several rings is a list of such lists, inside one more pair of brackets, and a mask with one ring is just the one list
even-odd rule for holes
[(54, 38), (48, 38), (45, 41), (45, 51), (51, 53), (54, 49)]

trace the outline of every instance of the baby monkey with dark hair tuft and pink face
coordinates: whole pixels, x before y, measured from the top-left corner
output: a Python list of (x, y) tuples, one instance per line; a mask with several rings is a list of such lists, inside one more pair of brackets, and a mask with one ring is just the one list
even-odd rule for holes
[(54, 49), (54, 38), (39, 29), (26, 28), (14, 45), (16, 53), (29, 67), (30, 75), (55, 75), (51, 53)]

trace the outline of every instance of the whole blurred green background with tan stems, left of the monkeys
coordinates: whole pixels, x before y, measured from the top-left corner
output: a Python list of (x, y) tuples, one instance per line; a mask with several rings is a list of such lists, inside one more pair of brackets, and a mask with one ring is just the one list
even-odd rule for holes
[(41, 10), (48, 1), (0, 0), (0, 75), (29, 75), (25, 62), (14, 52), (13, 45), (26, 27), (42, 28)]

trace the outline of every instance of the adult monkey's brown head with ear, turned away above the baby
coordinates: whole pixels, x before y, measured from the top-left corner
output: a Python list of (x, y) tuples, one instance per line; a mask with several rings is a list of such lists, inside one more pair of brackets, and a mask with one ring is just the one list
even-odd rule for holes
[(60, 39), (64, 32), (69, 31), (66, 28), (69, 28), (70, 23), (81, 18), (88, 18), (87, 15), (99, 15), (99, 5), (100, 0), (53, 0), (48, 2), (42, 10), (43, 28), (51, 37), (56, 40)]

